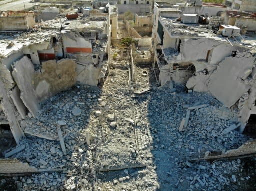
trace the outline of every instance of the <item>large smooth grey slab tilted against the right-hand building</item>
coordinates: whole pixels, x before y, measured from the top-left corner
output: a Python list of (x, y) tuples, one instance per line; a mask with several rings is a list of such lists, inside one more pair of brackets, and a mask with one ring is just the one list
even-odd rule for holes
[(241, 76), (248, 69), (252, 69), (253, 62), (253, 57), (228, 57), (224, 59), (210, 76), (209, 91), (226, 107), (231, 107), (250, 88), (249, 84), (241, 80)]

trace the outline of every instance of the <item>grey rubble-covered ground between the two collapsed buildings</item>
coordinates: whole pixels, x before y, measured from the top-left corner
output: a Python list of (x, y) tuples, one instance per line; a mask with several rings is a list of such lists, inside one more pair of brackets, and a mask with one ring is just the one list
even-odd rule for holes
[[(207, 93), (187, 93), (182, 85), (158, 87), (150, 66), (136, 71), (133, 83), (127, 61), (113, 61), (102, 87), (77, 84), (42, 103), (39, 116), (22, 128), (57, 139), (59, 125), (66, 155), (58, 140), (30, 135), (21, 141), (26, 149), (13, 157), (38, 169), (62, 171), (12, 177), (17, 190), (253, 190), (253, 158), (189, 161), (238, 148), (249, 139), (238, 131), (222, 133), (237, 122), (236, 108), (225, 108)], [(151, 90), (134, 94), (133, 87)], [(180, 132), (187, 107), (200, 104), (207, 105), (192, 110)]]

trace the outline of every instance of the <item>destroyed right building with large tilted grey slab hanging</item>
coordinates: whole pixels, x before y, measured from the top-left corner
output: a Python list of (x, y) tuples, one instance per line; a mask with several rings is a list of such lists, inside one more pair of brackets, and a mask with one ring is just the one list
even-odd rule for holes
[[(253, 103), (247, 104), (247, 99), (254, 97), (255, 37), (242, 37), (239, 28), (225, 25), (220, 25), (220, 35), (216, 35), (196, 14), (179, 14), (174, 9), (167, 13), (162, 13), (161, 8), (158, 11), (153, 35), (155, 63), (160, 69), (159, 83), (164, 85), (173, 80), (186, 84), (193, 91), (210, 92), (227, 107), (239, 102), (240, 121), (246, 123), (250, 116), (248, 110), (254, 107)], [(246, 18), (248, 22), (255, 20), (252, 16)], [(223, 22), (225, 18), (218, 20), (218, 24)], [(234, 23), (246, 25), (246, 22)], [(252, 25), (247, 26), (255, 31)], [(228, 71), (232, 71), (232, 75), (224, 74)]]

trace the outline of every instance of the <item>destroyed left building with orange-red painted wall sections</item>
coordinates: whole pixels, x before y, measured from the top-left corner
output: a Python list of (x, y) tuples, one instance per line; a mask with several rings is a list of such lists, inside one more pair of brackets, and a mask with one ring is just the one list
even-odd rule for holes
[[(19, 12), (7, 13), (11, 15), (9, 19), (19, 19), (20, 16), (15, 17), (15, 14)], [(108, 20), (108, 16), (76, 20), (60, 17), (40, 26), (35, 26), (34, 22), (31, 26), (38, 29), (31, 33), (1, 33), (1, 88), (4, 88), (1, 91), (8, 95), (8, 98), (2, 97), (1, 104), (8, 105), (4, 112), (17, 143), (23, 133), (18, 123), (12, 122), (17, 119), (11, 118), (10, 113), (15, 112), (7, 107), (16, 108), (22, 119), (27, 117), (27, 110), (36, 117), (40, 102), (76, 82), (97, 86), (104, 78), (110, 52), (111, 24)], [(27, 29), (25, 23), (16, 29), (22, 30), (23, 27)]]

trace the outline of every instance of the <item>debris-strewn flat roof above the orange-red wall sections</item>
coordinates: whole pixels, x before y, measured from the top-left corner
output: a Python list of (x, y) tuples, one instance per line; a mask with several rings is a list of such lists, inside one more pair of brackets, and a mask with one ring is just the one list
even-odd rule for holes
[[(0, 57), (7, 57), (12, 51), (18, 51), (23, 47), (49, 42), (53, 35), (60, 34), (61, 26), (61, 33), (77, 30), (81, 32), (103, 31), (106, 21), (90, 21), (88, 17), (74, 20), (58, 18), (39, 23), (32, 32), (0, 32)], [(95, 50), (105, 49), (105, 42), (102, 41), (102, 43), (97, 44), (98, 48)]]

